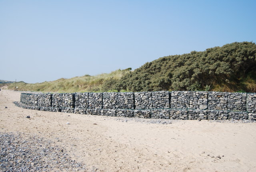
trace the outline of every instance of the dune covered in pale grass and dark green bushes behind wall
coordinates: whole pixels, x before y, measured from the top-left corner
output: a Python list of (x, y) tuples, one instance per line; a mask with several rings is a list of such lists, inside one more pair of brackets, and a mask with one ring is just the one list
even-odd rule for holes
[[(8, 86), (14, 89), (14, 84)], [(234, 42), (203, 52), (166, 56), (131, 71), (59, 79), (36, 84), (18, 83), (19, 90), (42, 92), (103, 92), (206, 90), (256, 92), (256, 44)]]

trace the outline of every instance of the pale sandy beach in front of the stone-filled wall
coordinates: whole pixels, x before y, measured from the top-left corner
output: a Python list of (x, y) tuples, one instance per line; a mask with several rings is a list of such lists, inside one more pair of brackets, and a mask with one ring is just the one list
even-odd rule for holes
[[(256, 171), (256, 123), (150, 124), (27, 110), (12, 103), (19, 98), (20, 92), (0, 91), (0, 132), (20, 131), (52, 140), (74, 160), (84, 162), (88, 171)], [(25, 118), (28, 115), (31, 118)]]

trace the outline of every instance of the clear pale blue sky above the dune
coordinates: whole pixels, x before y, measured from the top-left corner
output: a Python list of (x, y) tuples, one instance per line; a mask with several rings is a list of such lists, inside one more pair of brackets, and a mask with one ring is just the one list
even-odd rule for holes
[(0, 0), (0, 80), (132, 69), (256, 42), (256, 0)]

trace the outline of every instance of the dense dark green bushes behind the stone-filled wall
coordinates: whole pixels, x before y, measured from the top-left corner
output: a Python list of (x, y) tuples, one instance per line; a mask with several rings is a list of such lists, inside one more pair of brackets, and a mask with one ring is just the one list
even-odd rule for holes
[(147, 62), (115, 81), (115, 86), (131, 91), (218, 89), (216, 91), (252, 92), (255, 84), (242, 83), (249, 74), (256, 76), (256, 44), (234, 42), (204, 52), (192, 51)]

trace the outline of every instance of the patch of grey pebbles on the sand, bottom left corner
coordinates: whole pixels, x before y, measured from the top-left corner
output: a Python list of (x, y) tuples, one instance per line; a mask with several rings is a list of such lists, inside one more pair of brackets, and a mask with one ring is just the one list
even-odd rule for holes
[[(40, 146), (39, 146), (40, 145)], [(0, 132), (0, 171), (86, 171), (54, 142), (22, 132)]]

